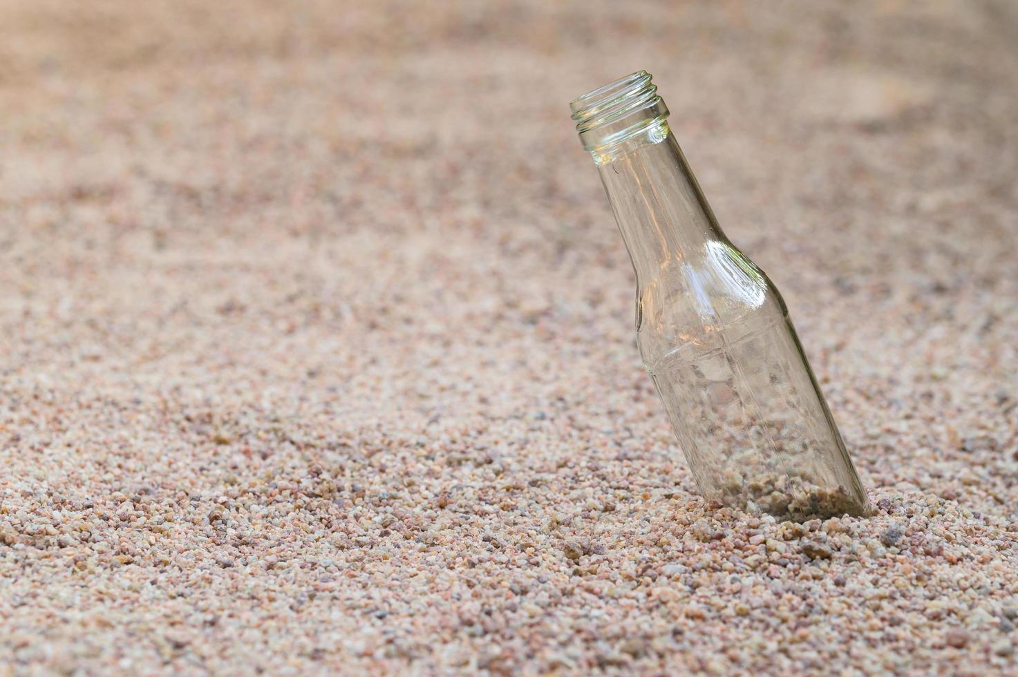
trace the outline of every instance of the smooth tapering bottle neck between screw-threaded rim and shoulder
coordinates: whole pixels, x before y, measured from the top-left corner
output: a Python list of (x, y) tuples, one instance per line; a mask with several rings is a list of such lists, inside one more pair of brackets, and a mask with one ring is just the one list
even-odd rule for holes
[(665, 120), (619, 145), (599, 164), (601, 180), (637, 277), (727, 241)]

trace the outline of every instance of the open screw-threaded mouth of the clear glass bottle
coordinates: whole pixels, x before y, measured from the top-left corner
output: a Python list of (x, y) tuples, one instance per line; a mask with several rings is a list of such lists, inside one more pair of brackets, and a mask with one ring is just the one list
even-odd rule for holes
[(639, 70), (574, 99), (569, 108), (583, 148), (591, 153), (622, 144), (668, 117), (651, 73)]

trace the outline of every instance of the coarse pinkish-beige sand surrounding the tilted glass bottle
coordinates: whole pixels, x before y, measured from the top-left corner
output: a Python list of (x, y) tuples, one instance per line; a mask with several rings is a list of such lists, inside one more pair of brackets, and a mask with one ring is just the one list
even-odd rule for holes
[[(1013, 674), (1016, 36), (3, 0), (0, 675)], [(871, 519), (696, 497), (568, 115), (638, 68)]]

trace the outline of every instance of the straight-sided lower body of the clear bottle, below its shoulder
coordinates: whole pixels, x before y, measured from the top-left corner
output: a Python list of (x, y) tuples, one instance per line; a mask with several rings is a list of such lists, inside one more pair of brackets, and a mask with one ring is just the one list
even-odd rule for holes
[(787, 322), (706, 333), (647, 371), (708, 500), (783, 519), (866, 514)]

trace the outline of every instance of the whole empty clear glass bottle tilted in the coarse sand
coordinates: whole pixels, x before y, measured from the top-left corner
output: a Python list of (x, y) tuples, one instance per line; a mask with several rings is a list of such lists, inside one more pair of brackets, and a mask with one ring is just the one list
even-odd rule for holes
[(725, 236), (645, 71), (571, 104), (636, 272), (636, 337), (700, 493), (804, 520), (865, 491), (768, 276)]

